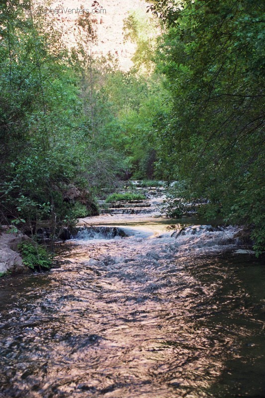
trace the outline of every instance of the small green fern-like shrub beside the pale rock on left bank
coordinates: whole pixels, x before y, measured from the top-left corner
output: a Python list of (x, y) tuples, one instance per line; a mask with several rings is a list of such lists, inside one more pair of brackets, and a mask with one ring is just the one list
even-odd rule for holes
[(51, 268), (52, 255), (41, 245), (32, 242), (22, 242), (18, 245), (23, 264), (31, 269), (44, 270)]

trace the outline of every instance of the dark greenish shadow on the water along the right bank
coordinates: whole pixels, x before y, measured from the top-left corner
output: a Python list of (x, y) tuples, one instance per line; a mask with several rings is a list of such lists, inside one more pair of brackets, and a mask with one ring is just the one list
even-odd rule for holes
[[(207, 269), (211, 272), (207, 272)], [(215, 270), (214, 274), (213, 271)], [(262, 260), (222, 255), (191, 271), (216, 289), (196, 304), (198, 327), (208, 325), (221, 371), (207, 389), (211, 397), (265, 397), (264, 281)], [(215, 340), (216, 339), (216, 340)]]

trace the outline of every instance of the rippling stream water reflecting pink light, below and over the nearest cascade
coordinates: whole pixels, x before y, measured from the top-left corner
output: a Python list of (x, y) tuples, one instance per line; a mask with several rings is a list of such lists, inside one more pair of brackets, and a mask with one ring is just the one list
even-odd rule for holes
[(0, 281), (1, 398), (265, 397), (265, 268), (233, 228), (86, 222), (60, 268)]

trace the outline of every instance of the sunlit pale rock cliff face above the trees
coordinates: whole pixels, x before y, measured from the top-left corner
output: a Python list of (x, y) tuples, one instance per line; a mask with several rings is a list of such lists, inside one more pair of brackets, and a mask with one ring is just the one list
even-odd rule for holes
[[(68, 47), (76, 45), (76, 22), (80, 15), (81, 5), (90, 12), (90, 19), (96, 28), (97, 43), (92, 45), (92, 53), (106, 56), (110, 53), (118, 59), (120, 69), (127, 71), (132, 66), (131, 57), (135, 45), (123, 42), (123, 20), (132, 10), (146, 10), (147, 2), (143, 0), (57, 0), (52, 1), (49, 8), (58, 9), (50, 12), (58, 28), (63, 31), (63, 40)], [(41, 1), (41, 4), (47, 4)]]

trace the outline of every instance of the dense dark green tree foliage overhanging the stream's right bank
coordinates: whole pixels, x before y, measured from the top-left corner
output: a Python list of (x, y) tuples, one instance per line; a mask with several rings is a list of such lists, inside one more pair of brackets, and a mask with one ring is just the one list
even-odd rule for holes
[(158, 68), (173, 108), (157, 136), (165, 176), (205, 198), (208, 218), (248, 226), (265, 244), (264, 5), (256, 0), (154, 1), (167, 26)]

